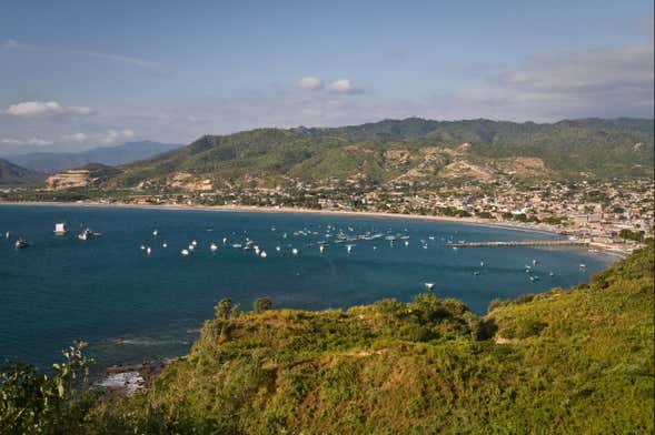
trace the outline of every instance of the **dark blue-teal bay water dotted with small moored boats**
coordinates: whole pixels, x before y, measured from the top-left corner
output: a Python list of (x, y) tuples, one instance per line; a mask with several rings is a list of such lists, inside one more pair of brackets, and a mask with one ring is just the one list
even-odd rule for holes
[[(56, 222), (71, 231), (54, 235)], [(86, 226), (101, 235), (78, 240)], [(0, 358), (39, 365), (58, 358), (73, 340), (89, 342), (102, 364), (183, 354), (221, 297), (246, 308), (261, 295), (277, 307), (338, 308), (383, 297), (409, 301), (431, 282), (438, 296), (484, 313), (496, 297), (586, 282), (612, 262), (576, 249), (455, 251), (444, 243), (554, 236), (366, 216), (1, 205), (0, 231), (11, 232), (11, 241), (0, 239)], [(350, 241), (339, 241), (339, 232)], [(391, 245), (388, 235), (398, 240)], [(31, 246), (14, 249), (16, 236)], [(267, 257), (231, 246), (246, 237)], [(192, 240), (197, 247), (182, 256)], [(151, 246), (150, 255), (142, 244)], [(354, 245), (349, 254), (347, 244)], [(533, 260), (529, 275), (539, 276), (534, 282), (525, 271)]]

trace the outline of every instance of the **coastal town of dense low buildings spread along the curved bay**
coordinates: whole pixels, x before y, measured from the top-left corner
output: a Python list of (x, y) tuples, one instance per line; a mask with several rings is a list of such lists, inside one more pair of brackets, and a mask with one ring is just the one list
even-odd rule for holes
[(284, 185), (235, 185), (197, 190), (102, 191), (21, 188), (0, 191), (0, 201), (51, 201), (140, 206), (251, 208), (285, 211), (384, 213), (455, 219), (545, 230), (588, 244), (592, 250), (627, 254), (653, 235), (653, 180), (543, 181), (526, 184), (449, 180), (439, 183), (385, 183), (328, 180)]

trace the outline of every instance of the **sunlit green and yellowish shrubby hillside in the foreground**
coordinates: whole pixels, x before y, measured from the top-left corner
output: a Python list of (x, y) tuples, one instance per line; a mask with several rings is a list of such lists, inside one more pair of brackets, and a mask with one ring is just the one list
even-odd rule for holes
[(653, 270), (649, 240), (589, 284), (484, 317), (434, 294), (325, 312), (224, 300), (147, 393), (51, 415), (3, 384), (0, 409), (20, 402), (13, 427), (43, 433), (653, 433)]

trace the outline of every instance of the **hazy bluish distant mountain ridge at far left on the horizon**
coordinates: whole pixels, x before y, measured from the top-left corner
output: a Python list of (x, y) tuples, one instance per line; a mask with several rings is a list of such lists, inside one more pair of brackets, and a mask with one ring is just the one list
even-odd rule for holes
[(81, 152), (31, 152), (9, 155), (7, 159), (32, 171), (54, 173), (64, 169), (83, 166), (87, 163), (108, 165), (131, 163), (179, 146), (181, 144), (142, 141), (128, 142), (118, 146), (93, 148)]

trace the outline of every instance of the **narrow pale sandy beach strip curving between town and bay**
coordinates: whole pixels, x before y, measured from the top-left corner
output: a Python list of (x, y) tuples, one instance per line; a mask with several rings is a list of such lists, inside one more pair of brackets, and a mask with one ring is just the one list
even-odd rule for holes
[(512, 224), (507, 222), (498, 222), (494, 220), (479, 219), (479, 218), (451, 218), (451, 216), (435, 216), (424, 214), (403, 214), (403, 213), (386, 213), (386, 212), (357, 212), (348, 210), (316, 210), (316, 209), (304, 209), (304, 208), (270, 208), (259, 205), (185, 205), (185, 204), (128, 204), (123, 202), (103, 203), (97, 201), (86, 202), (54, 202), (54, 201), (6, 201), (0, 202), (0, 205), (37, 205), (37, 206), (80, 206), (80, 208), (107, 208), (107, 209), (141, 209), (141, 210), (172, 210), (172, 211), (215, 211), (215, 212), (251, 212), (251, 213), (288, 213), (288, 214), (319, 214), (319, 215), (334, 215), (334, 216), (360, 216), (360, 218), (381, 218), (381, 219), (398, 219), (398, 220), (413, 220), (413, 221), (433, 221), (433, 222), (450, 222), (474, 226), (487, 226), (487, 227), (504, 227), (507, 230), (526, 231), (534, 233), (543, 233), (550, 235), (563, 234), (557, 229), (552, 227), (532, 227), (523, 226), (518, 224)]

